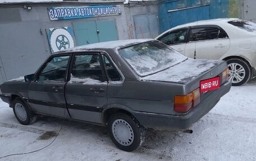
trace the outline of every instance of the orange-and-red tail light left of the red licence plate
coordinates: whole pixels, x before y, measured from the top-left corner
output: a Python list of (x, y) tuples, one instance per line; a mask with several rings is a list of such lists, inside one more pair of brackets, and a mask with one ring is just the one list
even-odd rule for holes
[(174, 111), (179, 113), (188, 112), (200, 103), (200, 89), (196, 89), (187, 95), (176, 95), (174, 97)]

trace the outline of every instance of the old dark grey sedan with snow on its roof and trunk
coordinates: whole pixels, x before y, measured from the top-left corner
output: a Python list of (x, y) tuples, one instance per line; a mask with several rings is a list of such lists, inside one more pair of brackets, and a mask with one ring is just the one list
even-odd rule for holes
[(188, 129), (228, 93), (231, 81), (225, 61), (190, 59), (141, 39), (57, 52), (34, 74), (0, 88), (22, 125), (40, 114), (107, 126), (115, 145), (132, 151), (145, 128)]

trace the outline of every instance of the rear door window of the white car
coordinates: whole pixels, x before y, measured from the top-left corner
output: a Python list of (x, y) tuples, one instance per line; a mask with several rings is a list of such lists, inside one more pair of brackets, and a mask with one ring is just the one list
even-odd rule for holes
[(190, 34), (190, 42), (217, 39), (218, 33), (219, 29), (217, 27), (202, 27), (192, 29)]

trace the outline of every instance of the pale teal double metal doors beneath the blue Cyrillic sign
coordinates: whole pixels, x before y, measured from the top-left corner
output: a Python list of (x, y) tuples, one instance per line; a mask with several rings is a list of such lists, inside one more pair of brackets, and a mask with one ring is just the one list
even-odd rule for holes
[(73, 25), (77, 45), (118, 40), (115, 20), (76, 22)]

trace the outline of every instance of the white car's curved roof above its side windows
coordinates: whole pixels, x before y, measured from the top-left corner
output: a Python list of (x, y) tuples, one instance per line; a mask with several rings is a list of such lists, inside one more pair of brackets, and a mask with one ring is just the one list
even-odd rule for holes
[(159, 38), (163, 34), (166, 34), (168, 31), (175, 30), (175, 29), (181, 29), (184, 27), (190, 27), (190, 26), (199, 26), (199, 25), (221, 25), (221, 24), (227, 24), (229, 21), (235, 21), (239, 19), (235, 18), (225, 18), (225, 19), (210, 19), (210, 20), (201, 20), (201, 21), (195, 21), (195, 22), (190, 22), (188, 24), (182, 24), (176, 27), (172, 27), (169, 30), (164, 31), (162, 34), (158, 35), (155, 39)]

